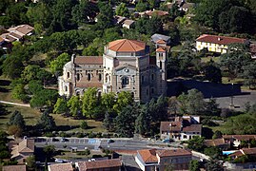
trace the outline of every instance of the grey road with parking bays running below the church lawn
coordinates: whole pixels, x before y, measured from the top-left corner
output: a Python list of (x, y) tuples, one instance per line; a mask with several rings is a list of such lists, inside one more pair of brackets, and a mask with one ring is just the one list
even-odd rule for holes
[(145, 148), (174, 148), (179, 147), (177, 142), (171, 143), (172, 147), (168, 147), (165, 142), (154, 141), (135, 141), (133, 139), (112, 139), (114, 142), (108, 143), (108, 139), (89, 139), (89, 138), (67, 138), (67, 142), (60, 142), (61, 138), (56, 138), (58, 141), (52, 141), (50, 138), (37, 138), (35, 145), (43, 147), (52, 144), (57, 149), (76, 148), (77, 150), (84, 150), (85, 147), (89, 149), (98, 149), (100, 146), (111, 150), (139, 150)]

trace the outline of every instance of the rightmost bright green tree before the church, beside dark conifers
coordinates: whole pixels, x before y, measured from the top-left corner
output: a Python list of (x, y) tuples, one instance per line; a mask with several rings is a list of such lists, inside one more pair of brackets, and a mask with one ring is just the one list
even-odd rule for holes
[(116, 104), (113, 105), (113, 109), (119, 114), (124, 107), (132, 103), (133, 99), (130, 92), (122, 91), (118, 93), (117, 101)]

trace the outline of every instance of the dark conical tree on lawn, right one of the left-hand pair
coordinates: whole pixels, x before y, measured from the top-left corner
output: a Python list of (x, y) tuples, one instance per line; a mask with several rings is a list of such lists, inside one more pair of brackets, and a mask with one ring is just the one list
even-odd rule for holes
[(54, 119), (49, 115), (47, 110), (41, 115), (41, 118), (37, 122), (37, 127), (45, 131), (53, 130), (56, 127)]

